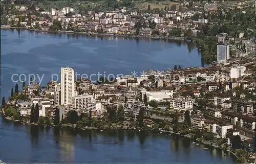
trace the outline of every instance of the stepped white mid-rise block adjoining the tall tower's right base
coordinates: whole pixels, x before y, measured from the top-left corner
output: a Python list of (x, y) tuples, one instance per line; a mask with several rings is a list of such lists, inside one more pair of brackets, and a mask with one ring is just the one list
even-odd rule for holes
[(85, 113), (87, 108), (86, 104), (89, 102), (93, 102), (93, 95), (83, 94), (72, 97), (72, 107), (78, 113)]

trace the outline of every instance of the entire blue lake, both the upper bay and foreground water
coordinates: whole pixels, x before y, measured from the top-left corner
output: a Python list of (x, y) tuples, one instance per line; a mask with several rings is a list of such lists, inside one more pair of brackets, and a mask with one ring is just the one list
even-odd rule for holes
[[(201, 66), (194, 46), (180, 41), (83, 37), (1, 30), (1, 97), (10, 95), (18, 77), (39, 75), (42, 85), (70, 66), (78, 74), (131, 75)], [(12, 76), (16, 74), (17, 76)], [(25, 76), (20, 76), (24, 74)], [(14, 78), (12, 80), (12, 77)], [(38, 80), (38, 79), (36, 79)], [(193, 141), (146, 132), (75, 131), (18, 125), (2, 119), (1, 160), (6, 163), (233, 163), (224, 151)]]

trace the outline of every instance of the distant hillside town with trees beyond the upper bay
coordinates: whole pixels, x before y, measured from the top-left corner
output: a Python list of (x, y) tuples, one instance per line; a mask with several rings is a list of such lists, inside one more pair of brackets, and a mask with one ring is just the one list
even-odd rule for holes
[[(197, 44), (206, 63), (255, 51), (253, 1), (106, 1), (69, 4), (72, 7), (22, 2), (1, 1), (1, 28), (189, 40)], [(230, 49), (230, 55), (218, 58), (218, 44), (218, 50)]]

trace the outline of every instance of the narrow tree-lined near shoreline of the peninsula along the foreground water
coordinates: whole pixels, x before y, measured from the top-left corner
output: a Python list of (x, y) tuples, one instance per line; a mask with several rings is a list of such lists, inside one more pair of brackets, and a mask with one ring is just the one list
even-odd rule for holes
[[(3, 113), (4, 114), (4, 113)], [(100, 131), (106, 131), (106, 130), (117, 130), (117, 129), (120, 129), (120, 130), (132, 130), (132, 131), (144, 131), (144, 132), (151, 132), (151, 133), (157, 133), (158, 135), (161, 135), (161, 134), (165, 134), (165, 135), (177, 135), (179, 137), (184, 137), (184, 138), (187, 138), (187, 139), (194, 139), (194, 135), (193, 134), (181, 134), (179, 132), (173, 132), (173, 131), (166, 131), (166, 130), (155, 130), (155, 129), (147, 129), (147, 128), (139, 128), (139, 127), (126, 127), (126, 128), (123, 128), (123, 127), (116, 127), (116, 128), (103, 128), (103, 129), (100, 129), (100, 128), (95, 128), (95, 127), (84, 127), (84, 128), (76, 128), (76, 125), (75, 124), (63, 124), (63, 125), (44, 125), (44, 126), (38, 126), (37, 124), (30, 124), (28, 122), (22, 122), (20, 120), (13, 120), (12, 118), (10, 118), (9, 116), (3, 116), (3, 119), (9, 121), (9, 122), (12, 122), (12, 123), (18, 123), (20, 125), (28, 125), (28, 126), (36, 126), (38, 128), (50, 128), (50, 129), (54, 129), (54, 128), (59, 128), (59, 129), (72, 129), (72, 130), (79, 130), (79, 131), (84, 131), (84, 130), (100, 130)], [(204, 145), (207, 145), (211, 148), (215, 148), (215, 149), (220, 149), (220, 150), (223, 150), (225, 152), (228, 152), (230, 153), (231, 155), (233, 155), (235, 158), (238, 158), (238, 155), (231, 151), (231, 149), (226, 149), (225, 147), (221, 147), (221, 146), (218, 146), (216, 143), (213, 143), (213, 142), (210, 142), (208, 140), (204, 140), (204, 139), (201, 139), (201, 138), (196, 138), (194, 139), (194, 142), (196, 142), (195, 144), (204, 144)]]

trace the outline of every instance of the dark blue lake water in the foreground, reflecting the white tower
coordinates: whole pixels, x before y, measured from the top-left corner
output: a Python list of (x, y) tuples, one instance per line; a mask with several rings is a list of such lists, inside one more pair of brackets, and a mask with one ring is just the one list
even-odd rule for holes
[(76, 131), (1, 122), (6, 163), (233, 163), (224, 151), (143, 131)]

